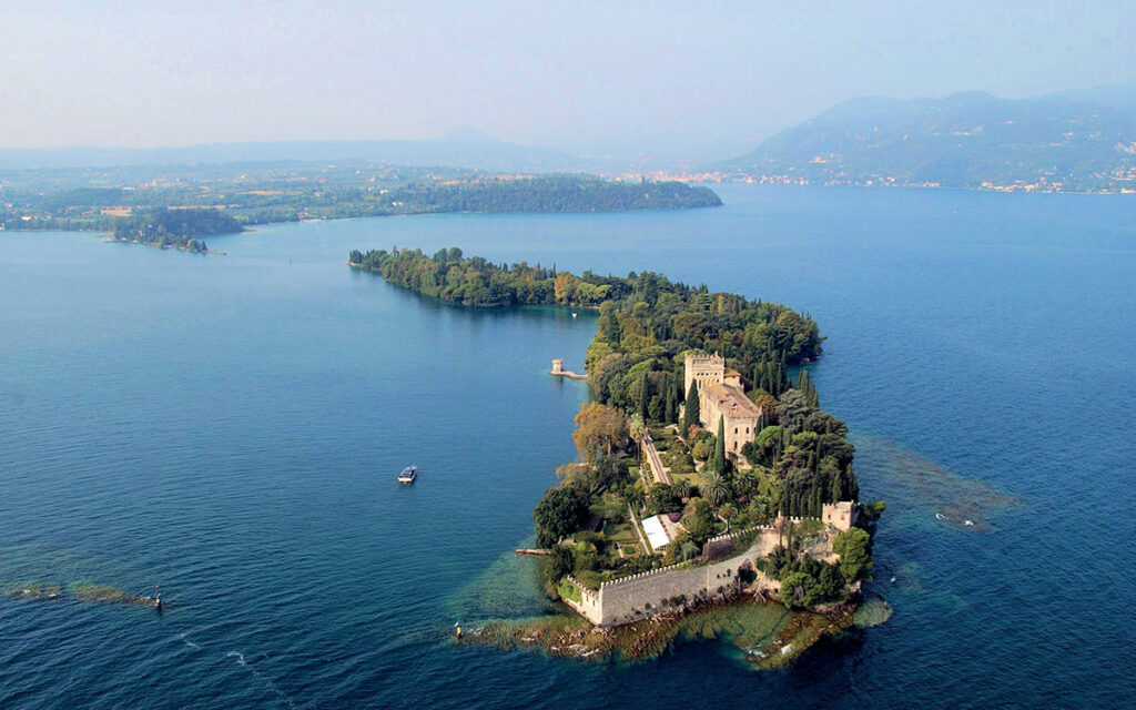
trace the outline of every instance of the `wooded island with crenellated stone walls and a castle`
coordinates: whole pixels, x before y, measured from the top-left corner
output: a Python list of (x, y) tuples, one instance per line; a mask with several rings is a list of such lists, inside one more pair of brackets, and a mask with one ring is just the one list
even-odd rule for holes
[[(812, 318), (650, 272), (577, 276), (457, 248), (353, 251), (349, 264), (460, 306), (599, 311), (579, 459), (557, 470), (523, 551), (579, 621), (493, 623), (466, 642), (634, 659), (694, 624), (734, 628), (772, 667), (862, 620), (885, 507), (859, 501), (847, 426), (820, 409)], [(738, 618), (752, 633), (736, 633)]]

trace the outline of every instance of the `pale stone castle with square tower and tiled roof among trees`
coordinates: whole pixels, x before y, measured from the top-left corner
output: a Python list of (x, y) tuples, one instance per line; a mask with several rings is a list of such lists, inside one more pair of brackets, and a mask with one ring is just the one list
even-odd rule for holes
[(737, 456), (758, 433), (761, 408), (742, 390), (742, 375), (726, 367), (718, 354), (686, 353), (684, 391), (699, 386), (699, 420), (703, 428), (718, 434), (718, 419), (725, 421), (726, 452)]

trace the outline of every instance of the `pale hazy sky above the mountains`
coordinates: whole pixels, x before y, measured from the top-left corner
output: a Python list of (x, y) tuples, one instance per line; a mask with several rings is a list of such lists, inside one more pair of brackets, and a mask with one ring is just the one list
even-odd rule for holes
[(476, 126), (523, 143), (694, 150), (859, 95), (1133, 80), (1133, 0), (0, 2), (3, 147)]

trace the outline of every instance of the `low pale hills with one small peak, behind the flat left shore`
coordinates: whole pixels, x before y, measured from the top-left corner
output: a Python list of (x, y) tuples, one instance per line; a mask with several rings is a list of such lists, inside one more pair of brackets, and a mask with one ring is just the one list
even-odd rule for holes
[(154, 165), (220, 165), (354, 160), (488, 172), (586, 170), (590, 166), (553, 148), (498, 141), (461, 128), (432, 141), (286, 141), (208, 143), (184, 148), (0, 149), (0, 169)]

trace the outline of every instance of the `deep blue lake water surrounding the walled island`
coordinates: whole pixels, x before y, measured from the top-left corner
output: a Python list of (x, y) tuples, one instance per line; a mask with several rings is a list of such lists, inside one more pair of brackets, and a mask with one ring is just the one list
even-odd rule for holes
[[(1130, 707), (1136, 202), (720, 192), (274, 226), (211, 239), (226, 257), (0, 234), (0, 585), (167, 602), (0, 598), (0, 708)], [(456, 620), (542, 608), (510, 551), (586, 398), (545, 370), (582, 367), (594, 320), (344, 265), (392, 244), (810, 312), (821, 404), (888, 504), (892, 619), (775, 673), (712, 642), (615, 667), (454, 646)]]

